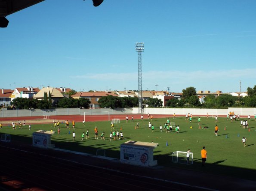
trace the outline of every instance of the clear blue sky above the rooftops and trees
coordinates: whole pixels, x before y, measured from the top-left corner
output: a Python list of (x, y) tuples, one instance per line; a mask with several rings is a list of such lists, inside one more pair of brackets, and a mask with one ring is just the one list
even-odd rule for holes
[[(0, 28), (0, 88), (242, 91), (256, 84), (255, 0), (46, 0)], [(157, 87), (155, 85), (158, 85)]]

